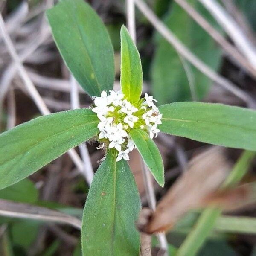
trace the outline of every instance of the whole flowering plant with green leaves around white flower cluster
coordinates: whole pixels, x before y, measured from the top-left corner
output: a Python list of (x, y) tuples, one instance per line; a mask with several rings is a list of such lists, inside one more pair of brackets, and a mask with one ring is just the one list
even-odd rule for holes
[[(202, 102), (156, 107), (145, 93), (140, 55), (121, 28), (121, 91), (113, 91), (113, 47), (104, 24), (83, 0), (62, 0), (47, 11), (55, 43), (91, 109), (41, 116), (0, 135), (0, 189), (31, 175), (91, 138), (105, 148), (84, 207), (83, 255), (139, 255), (135, 221), (140, 197), (128, 163), (134, 148), (164, 185), (160, 152), (152, 140), (162, 131), (205, 143), (256, 150), (256, 112)], [(172, 68), (172, 67), (170, 67)], [(109, 92), (109, 94), (108, 94)]]

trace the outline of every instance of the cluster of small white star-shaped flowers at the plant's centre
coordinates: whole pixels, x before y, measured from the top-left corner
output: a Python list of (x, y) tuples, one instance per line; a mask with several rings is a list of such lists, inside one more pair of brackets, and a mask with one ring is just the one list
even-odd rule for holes
[(140, 128), (149, 132), (151, 139), (157, 137), (161, 124), (162, 114), (154, 105), (157, 102), (152, 96), (145, 93), (145, 99), (140, 99), (134, 105), (124, 99), (121, 91), (110, 90), (110, 95), (102, 91), (100, 97), (93, 97), (95, 107), (92, 111), (97, 113), (100, 120), (99, 140), (103, 148), (105, 143), (109, 148), (118, 151), (116, 162), (122, 158), (129, 160), (128, 153), (136, 148), (133, 140), (129, 136), (129, 131), (133, 128)]

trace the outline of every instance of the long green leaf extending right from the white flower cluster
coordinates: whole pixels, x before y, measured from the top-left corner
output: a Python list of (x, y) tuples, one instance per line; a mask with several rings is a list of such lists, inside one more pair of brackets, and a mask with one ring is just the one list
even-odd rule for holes
[(256, 151), (256, 111), (223, 104), (177, 102), (160, 106), (159, 129), (192, 140)]

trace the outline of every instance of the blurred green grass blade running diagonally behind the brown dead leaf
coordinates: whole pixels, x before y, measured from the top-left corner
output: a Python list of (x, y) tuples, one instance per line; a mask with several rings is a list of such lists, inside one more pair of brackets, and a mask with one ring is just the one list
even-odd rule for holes
[[(230, 172), (230, 175), (227, 177), (223, 186), (227, 187), (236, 185), (241, 178), (244, 177), (255, 155), (255, 152), (244, 151), (236, 165), (233, 167), (233, 170)], [(221, 209), (205, 209), (198, 218), (192, 232), (186, 237), (183, 244), (181, 244), (176, 255), (196, 255), (202, 244), (204, 244), (204, 241), (206, 241), (209, 233), (213, 230), (215, 221), (220, 215)]]

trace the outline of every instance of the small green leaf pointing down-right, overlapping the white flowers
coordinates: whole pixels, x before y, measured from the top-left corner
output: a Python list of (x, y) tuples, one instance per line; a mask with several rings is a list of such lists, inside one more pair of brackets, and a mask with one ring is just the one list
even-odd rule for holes
[(160, 186), (164, 185), (164, 168), (161, 154), (157, 145), (148, 136), (148, 134), (141, 129), (131, 129), (130, 135), (135, 145), (138, 148), (143, 160), (150, 169), (152, 175)]

